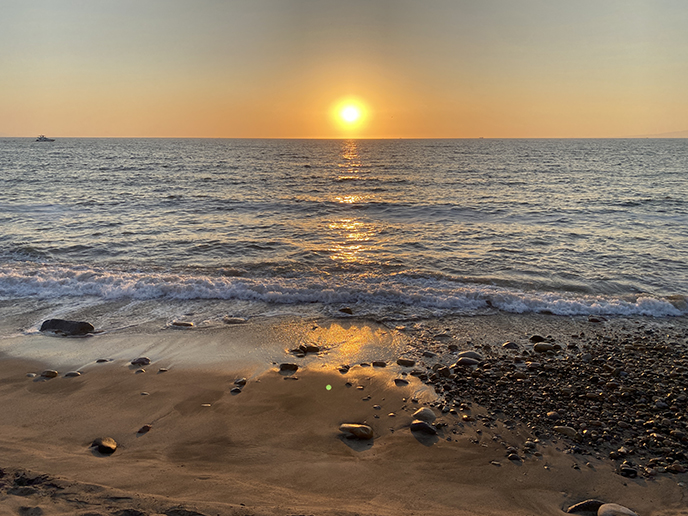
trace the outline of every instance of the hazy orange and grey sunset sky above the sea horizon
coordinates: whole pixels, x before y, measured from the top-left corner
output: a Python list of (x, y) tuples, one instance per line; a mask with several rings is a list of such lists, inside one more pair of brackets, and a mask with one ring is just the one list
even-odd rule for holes
[(0, 0), (0, 136), (675, 133), (687, 28), (685, 0)]

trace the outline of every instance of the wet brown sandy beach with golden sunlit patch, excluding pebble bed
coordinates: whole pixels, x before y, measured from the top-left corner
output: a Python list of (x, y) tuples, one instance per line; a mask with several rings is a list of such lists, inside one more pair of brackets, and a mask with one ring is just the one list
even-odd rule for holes
[[(685, 323), (645, 324), (685, 335)], [(590, 498), (642, 516), (688, 514), (688, 474), (622, 476), (601, 452), (571, 453), (572, 440), (538, 439), (528, 421), (483, 417), (489, 408), (468, 397), (447, 411), (418, 375), (432, 373), (420, 351), (432, 349), (430, 336), (436, 350), (454, 344), (453, 353), (485, 354), (483, 346), (507, 340), (527, 346), (536, 328), (561, 342), (621, 324), (630, 323), (493, 316), (387, 328), (280, 319), (8, 337), (0, 514), (525, 516), (561, 514)], [(319, 352), (290, 352), (304, 342)], [(144, 355), (150, 365), (130, 364)], [(396, 364), (402, 356), (416, 366)], [(280, 363), (299, 369), (281, 372)], [(41, 377), (46, 369), (58, 376)], [(241, 378), (245, 385), (235, 383)], [(422, 407), (436, 415), (437, 435), (409, 429)], [(343, 423), (369, 425), (374, 438), (351, 439)], [(117, 450), (96, 451), (98, 437), (112, 437)], [(514, 451), (518, 460), (507, 458)]]

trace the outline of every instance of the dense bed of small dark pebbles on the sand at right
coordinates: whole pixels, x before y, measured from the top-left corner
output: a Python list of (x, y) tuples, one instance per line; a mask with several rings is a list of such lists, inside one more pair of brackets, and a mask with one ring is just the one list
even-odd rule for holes
[(688, 471), (688, 334), (632, 321), (589, 329), (501, 344), (408, 331), (404, 374), (434, 387), (443, 413), (475, 403), (487, 427), (525, 426), (534, 441), (614, 460), (623, 476)]

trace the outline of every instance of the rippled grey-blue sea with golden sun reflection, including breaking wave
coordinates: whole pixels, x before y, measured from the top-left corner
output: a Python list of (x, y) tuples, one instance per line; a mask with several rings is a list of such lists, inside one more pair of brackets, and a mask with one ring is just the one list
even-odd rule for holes
[(0, 299), (688, 313), (686, 140), (0, 139)]

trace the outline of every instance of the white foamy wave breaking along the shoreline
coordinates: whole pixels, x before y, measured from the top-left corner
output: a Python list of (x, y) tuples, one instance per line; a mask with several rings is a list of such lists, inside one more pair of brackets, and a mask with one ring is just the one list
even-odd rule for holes
[(527, 291), (408, 274), (237, 277), (187, 272), (114, 271), (87, 266), (9, 264), (0, 267), (0, 298), (57, 299), (92, 296), (103, 301), (239, 300), (271, 304), (357, 305), (359, 313), (384, 317), (399, 307), (433, 313), (498, 309), (554, 315), (681, 316), (683, 296), (616, 298)]

